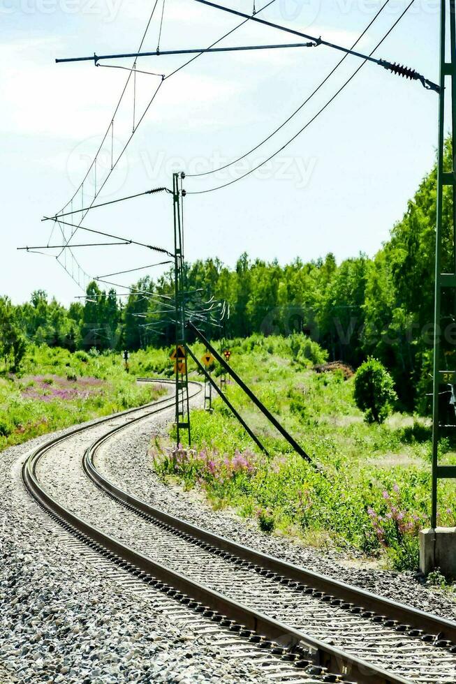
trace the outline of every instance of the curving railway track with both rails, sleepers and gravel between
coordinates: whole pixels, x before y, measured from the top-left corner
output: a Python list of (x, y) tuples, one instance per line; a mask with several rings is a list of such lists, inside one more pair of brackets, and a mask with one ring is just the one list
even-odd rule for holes
[[(201, 389), (197, 383), (191, 388), (192, 397)], [(145, 586), (292, 665), (307, 681), (456, 681), (456, 623), (236, 544), (103, 477), (96, 456), (110, 440), (173, 407), (174, 398), (166, 397), (50, 440), (24, 463), (24, 483), (64, 527)], [(82, 437), (84, 470), (78, 452), (78, 486), (62, 497), (61, 477), (45, 461)], [(89, 497), (84, 473), (96, 484)]]

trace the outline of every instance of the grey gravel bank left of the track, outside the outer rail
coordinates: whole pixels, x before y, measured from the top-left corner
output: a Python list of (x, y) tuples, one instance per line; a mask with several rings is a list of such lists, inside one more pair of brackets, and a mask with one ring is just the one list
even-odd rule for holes
[(29, 498), (20, 462), (45, 440), (0, 456), (2, 684), (264, 682), (251, 659), (227, 655), (191, 620), (177, 623), (166, 597), (112, 581), (108, 561), (100, 567)]

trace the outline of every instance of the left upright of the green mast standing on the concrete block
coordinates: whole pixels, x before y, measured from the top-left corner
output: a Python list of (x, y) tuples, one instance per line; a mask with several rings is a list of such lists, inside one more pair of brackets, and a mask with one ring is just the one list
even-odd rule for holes
[[(450, 0), (454, 8), (454, 0)], [(432, 507), (431, 526), (437, 526), (437, 466), (439, 449), (439, 359), (440, 359), (440, 308), (441, 308), (441, 242), (443, 216), (443, 153), (445, 144), (445, 46), (446, 46), (446, 0), (441, 0), (440, 28), (440, 85), (439, 94), (439, 148), (437, 157), (437, 209), (436, 209), (436, 255), (434, 283), (434, 363), (432, 387)]]

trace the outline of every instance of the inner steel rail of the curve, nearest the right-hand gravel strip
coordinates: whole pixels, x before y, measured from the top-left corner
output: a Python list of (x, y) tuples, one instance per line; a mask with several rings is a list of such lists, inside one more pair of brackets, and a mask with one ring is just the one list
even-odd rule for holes
[[(138, 417), (133, 419), (133, 421), (140, 421), (141, 419), (141, 417)], [(247, 561), (247, 563), (253, 563), (253, 565), (262, 570), (267, 570), (291, 582), (298, 583), (302, 590), (312, 588), (316, 592), (323, 594), (323, 600), (331, 597), (332, 600), (335, 599), (351, 604), (355, 610), (361, 608), (363, 611), (372, 612), (376, 616), (395, 620), (398, 624), (406, 625), (413, 630), (425, 630), (434, 635), (438, 634), (439, 639), (453, 641), (456, 644), (456, 622), (452, 620), (446, 620), (446, 618), (420, 611), (406, 604), (392, 601), (365, 589), (332, 579), (312, 570), (306, 570), (304, 567), (268, 556), (266, 553), (228, 540), (226, 537), (221, 537), (177, 516), (166, 513), (110, 482), (96, 468), (94, 458), (101, 445), (117, 432), (126, 429), (126, 427), (117, 426), (113, 428), (88, 447), (84, 453), (84, 470), (103, 491), (131, 507), (134, 512), (145, 514), (151, 519), (163, 523), (170, 531), (175, 531), (180, 535), (189, 535), (193, 540), (209, 545), (212, 549), (206, 549), (208, 551), (223, 551), (230, 554), (230, 556)]]

